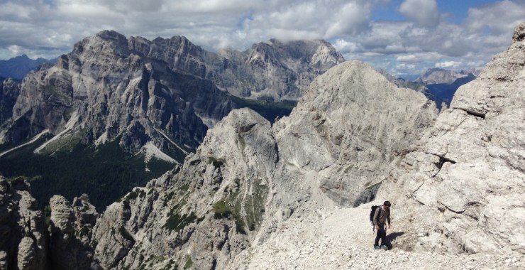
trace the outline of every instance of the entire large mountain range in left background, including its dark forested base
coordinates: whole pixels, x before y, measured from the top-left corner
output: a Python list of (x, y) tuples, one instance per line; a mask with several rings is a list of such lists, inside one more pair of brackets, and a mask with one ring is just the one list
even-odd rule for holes
[(325, 41), (211, 53), (180, 36), (101, 31), (20, 85), (2, 83), (0, 172), (38, 179), (41, 201), (88, 190), (105, 207), (183, 163), (232, 109), (251, 107), (270, 121), (289, 114), (297, 102), (284, 98), (297, 99), (342, 61)]

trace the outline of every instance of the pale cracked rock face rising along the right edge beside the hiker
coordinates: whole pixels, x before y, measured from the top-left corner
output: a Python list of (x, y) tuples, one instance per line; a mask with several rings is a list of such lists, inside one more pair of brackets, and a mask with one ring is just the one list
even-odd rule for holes
[(524, 29), (460, 87), (426, 144), (394, 173), (401, 182), (387, 185), (398, 205), (416, 202), (411, 219), (424, 234), (415, 241), (425, 249), (525, 254)]

